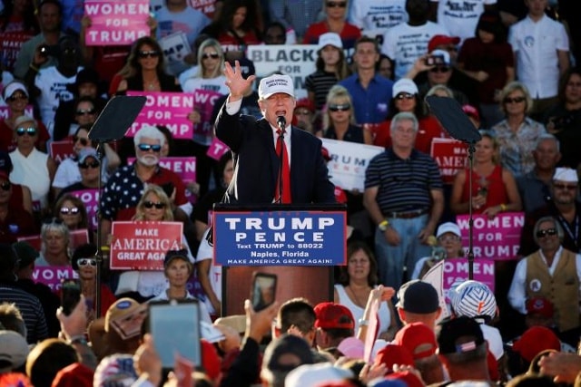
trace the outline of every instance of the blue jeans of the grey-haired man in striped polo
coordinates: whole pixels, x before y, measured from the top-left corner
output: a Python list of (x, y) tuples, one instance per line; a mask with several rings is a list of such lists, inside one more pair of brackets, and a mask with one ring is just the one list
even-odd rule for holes
[(428, 214), (418, 218), (389, 218), (389, 227), (399, 234), (399, 245), (391, 246), (385, 233), (379, 228), (375, 231), (375, 255), (378, 259), (379, 282), (399, 289), (404, 266), (411, 271), (423, 256), (431, 254), (431, 247), (422, 245), (418, 234), (428, 223)]

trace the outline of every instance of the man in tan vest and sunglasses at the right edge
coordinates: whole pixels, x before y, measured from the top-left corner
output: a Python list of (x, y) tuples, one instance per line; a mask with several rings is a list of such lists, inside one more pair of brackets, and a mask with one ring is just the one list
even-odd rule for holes
[(581, 332), (581, 256), (564, 246), (567, 233), (560, 223), (551, 216), (537, 220), (533, 236), (540, 248), (518, 262), (508, 302), (517, 312), (527, 314), (527, 299), (547, 298), (555, 308), (559, 339), (576, 346)]

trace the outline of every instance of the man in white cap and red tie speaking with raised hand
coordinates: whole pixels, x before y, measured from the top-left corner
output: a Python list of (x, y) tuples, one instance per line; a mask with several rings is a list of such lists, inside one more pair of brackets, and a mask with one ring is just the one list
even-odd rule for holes
[(296, 105), (289, 75), (265, 77), (259, 85), (261, 120), (240, 113), (255, 76), (244, 79), (238, 61), (226, 63), (228, 100), (215, 123), (216, 136), (235, 154), (227, 195), (243, 204), (334, 203), (334, 186), (320, 152), (321, 141), (291, 125)]

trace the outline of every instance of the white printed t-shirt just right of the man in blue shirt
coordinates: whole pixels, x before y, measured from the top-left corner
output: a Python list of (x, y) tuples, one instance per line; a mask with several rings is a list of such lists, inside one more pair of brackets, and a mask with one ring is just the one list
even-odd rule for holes
[(434, 35), (448, 35), (448, 30), (432, 22), (423, 25), (402, 23), (383, 35), (381, 53), (395, 61), (396, 80), (408, 73), (421, 55), (428, 53), (428, 43)]

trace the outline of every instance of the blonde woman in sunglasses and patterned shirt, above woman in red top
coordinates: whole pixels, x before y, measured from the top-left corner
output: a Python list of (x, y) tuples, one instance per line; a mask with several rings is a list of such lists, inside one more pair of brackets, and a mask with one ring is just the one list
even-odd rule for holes
[(502, 166), (517, 178), (535, 168), (533, 150), (538, 136), (547, 130), (542, 123), (528, 116), (533, 109), (533, 100), (523, 83), (508, 83), (500, 92), (500, 101), (500, 109), (506, 118), (491, 129), (500, 146)]

